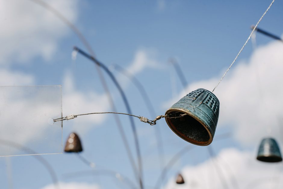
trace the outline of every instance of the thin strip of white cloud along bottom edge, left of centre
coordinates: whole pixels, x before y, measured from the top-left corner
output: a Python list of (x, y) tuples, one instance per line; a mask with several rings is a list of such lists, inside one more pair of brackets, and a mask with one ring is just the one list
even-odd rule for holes
[[(60, 182), (61, 189), (99, 189), (100, 187), (97, 184), (87, 184), (83, 182)], [(42, 189), (54, 189), (53, 184), (43, 187)]]

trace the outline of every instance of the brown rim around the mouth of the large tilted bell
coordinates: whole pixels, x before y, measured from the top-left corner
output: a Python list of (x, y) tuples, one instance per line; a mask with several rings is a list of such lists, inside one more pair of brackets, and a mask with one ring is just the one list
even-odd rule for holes
[(189, 143), (191, 143), (191, 144), (197, 145), (197, 146), (208, 146), (208, 145), (210, 145), (210, 144), (212, 143), (213, 137), (212, 137), (211, 131), (208, 129), (208, 126), (207, 126), (203, 121), (201, 121), (198, 117), (196, 117), (195, 115), (193, 115), (190, 111), (185, 111), (184, 109), (179, 109), (179, 108), (173, 108), (173, 109), (170, 108), (170, 109), (168, 109), (168, 110), (166, 111), (165, 115), (169, 114), (170, 112), (175, 112), (175, 111), (185, 113), (185, 114), (191, 116), (192, 118), (194, 118), (195, 120), (197, 120), (199, 123), (201, 123), (202, 126), (206, 129), (206, 131), (207, 131), (207, 133), (208, 133), (208, 135), (209, 135), (209, 140), (208, 140), (207, 143), (205, 143), (205, 144), (193, 143), (193, 142), (191, 142), (190, 140), (186, 140), (185, 138), (188, 138), (188, 139), (189, 139), (189, 137), (185, 137), (185, 136), (183, 137), (182, 135), (179, 135), (178, 133), (176, 133), (175, 130), (174, 130), (174, 129), (171, 127), (171, 125), (168, 123), (168, 118), (165, 117), (165, 121), (166, 121), (167, 125), (169, 126), (169, 128), (170, 128), (176, 135), (178, 135), (178, 136), (179, 136), (180, 138), (182, 138), (183, 140), (185, 140), (185, 141), (187, 141), (187, 142), (189, 142)]

